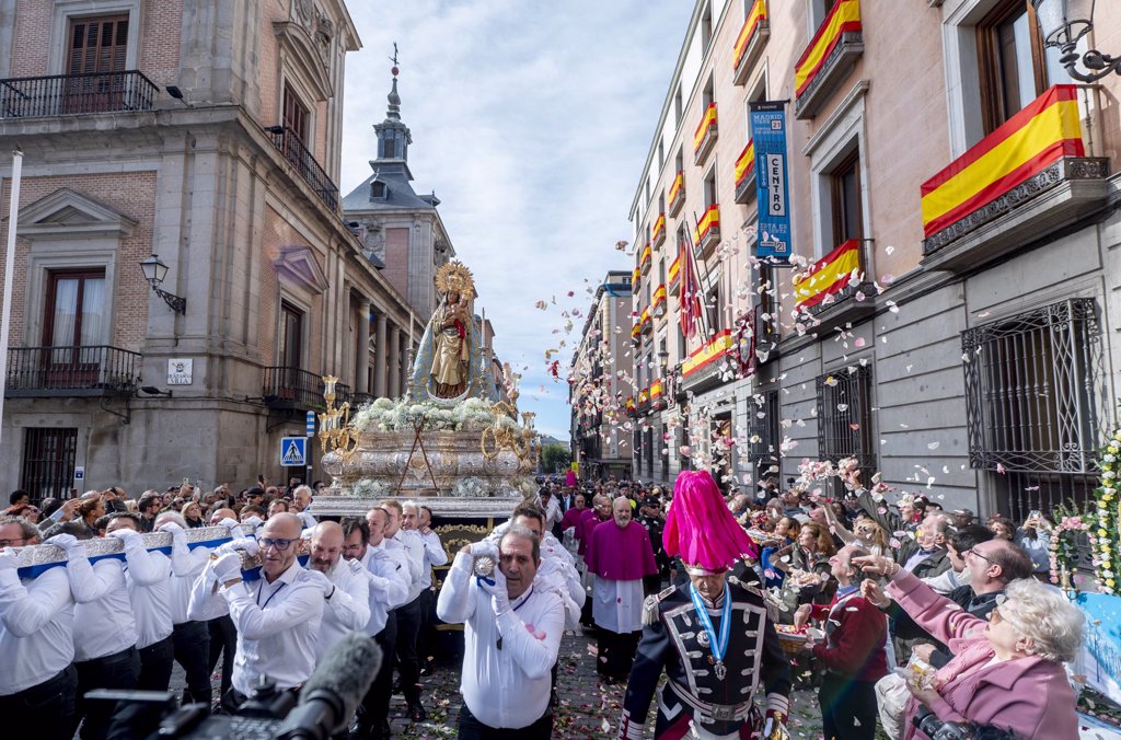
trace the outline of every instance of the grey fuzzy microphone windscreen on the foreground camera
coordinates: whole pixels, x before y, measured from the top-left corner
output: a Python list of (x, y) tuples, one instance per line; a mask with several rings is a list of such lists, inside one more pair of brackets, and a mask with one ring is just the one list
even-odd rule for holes
[(345, 729), (381, 667), (381, 648), (369, 635), (351, 632), (323, 658), (276, 737), (326, 740)]

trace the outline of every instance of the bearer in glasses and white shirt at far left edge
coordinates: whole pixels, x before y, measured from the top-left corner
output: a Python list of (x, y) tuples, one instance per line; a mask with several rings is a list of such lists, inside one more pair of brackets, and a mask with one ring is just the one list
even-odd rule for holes
[[(65, 567), (20, 579), (12, 547), (39, 544), (39, 531), (0, 518), (0, 714), (13, 738), (74, 734), (74, 599)], [(84, 557), (84, 554), (82, 555)]]

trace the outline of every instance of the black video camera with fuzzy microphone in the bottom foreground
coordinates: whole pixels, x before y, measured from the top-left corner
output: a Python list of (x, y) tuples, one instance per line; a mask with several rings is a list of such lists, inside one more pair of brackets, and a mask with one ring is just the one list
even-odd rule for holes
[(212, 715), (209, 704), (176, 709), (170, 692), (91, 691), (90, 700), (119, 702), (109, 738), (185, 740), (327, 740), (345, 729), (381, 666), (381, 649), (362, 632), (335, 645), (295, 692), (268, 678), (233, 715)]

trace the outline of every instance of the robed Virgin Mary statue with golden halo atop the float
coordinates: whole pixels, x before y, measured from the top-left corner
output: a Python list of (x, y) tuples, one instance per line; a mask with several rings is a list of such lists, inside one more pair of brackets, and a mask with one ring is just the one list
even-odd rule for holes
[(414, 400), (493, 399), (483, 376), (482, 344), (471, 311), (475, 283), (471, 270), (451, 261), (436, 271), (439, 305), (428, 320), (413, 366), (409, 395)]

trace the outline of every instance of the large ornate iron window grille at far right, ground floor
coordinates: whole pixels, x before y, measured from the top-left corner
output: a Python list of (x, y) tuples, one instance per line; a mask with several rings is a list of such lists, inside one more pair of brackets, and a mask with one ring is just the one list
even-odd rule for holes
[(1093, 489), (1096, 311), (1071, 298), (962, 333), (970, 464), (997, 472), (998, 507), (1015, 519)]

